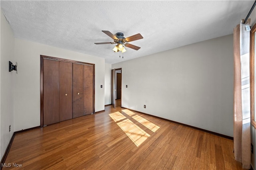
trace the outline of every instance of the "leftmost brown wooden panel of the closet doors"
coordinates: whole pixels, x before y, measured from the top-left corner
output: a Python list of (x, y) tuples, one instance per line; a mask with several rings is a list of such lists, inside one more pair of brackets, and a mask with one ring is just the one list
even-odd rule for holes
[(44, 59), (44, 125), (59, 122), (59, 61)]

